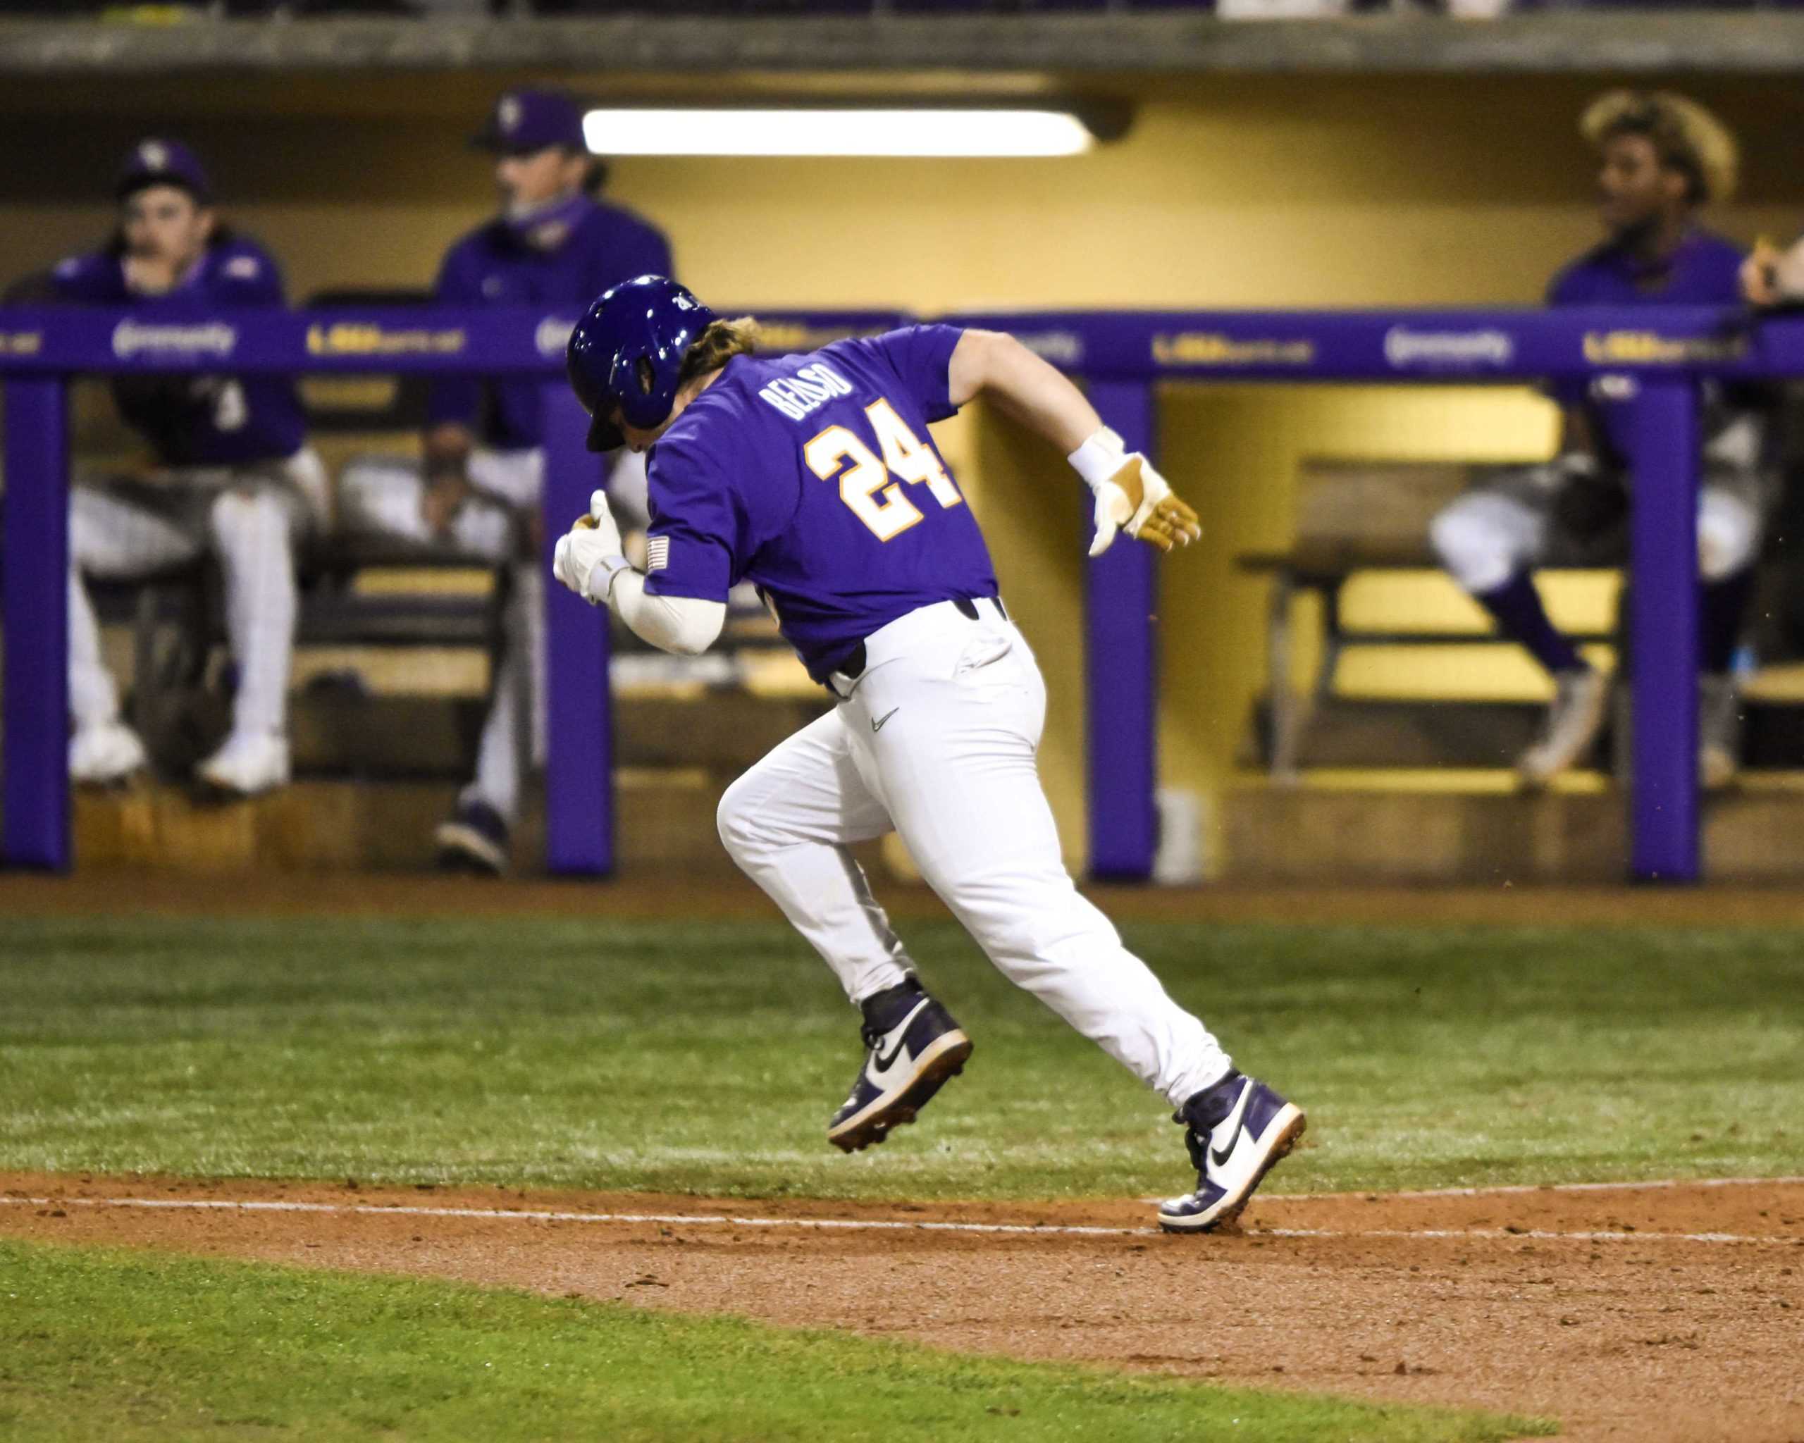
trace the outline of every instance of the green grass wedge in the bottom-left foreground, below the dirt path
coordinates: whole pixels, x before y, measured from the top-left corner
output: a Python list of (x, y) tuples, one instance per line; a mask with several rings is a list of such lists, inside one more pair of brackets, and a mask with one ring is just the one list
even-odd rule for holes
[(0, 1434), (1479, 1443), (1548, 1425), (619, 1304), (0, 1241)]

